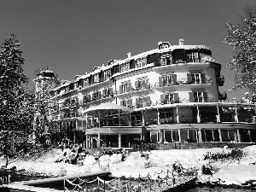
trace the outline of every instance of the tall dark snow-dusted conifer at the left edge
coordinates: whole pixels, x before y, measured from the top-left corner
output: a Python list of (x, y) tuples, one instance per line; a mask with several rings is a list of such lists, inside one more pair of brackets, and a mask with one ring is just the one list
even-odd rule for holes
[(11, 140), (32, 127), (32, 97), (26, 90), (28, 79), (19, 47), (15, 35), (11, 35), (2, 44), (0, 53), (0, 141), (7, 157)]

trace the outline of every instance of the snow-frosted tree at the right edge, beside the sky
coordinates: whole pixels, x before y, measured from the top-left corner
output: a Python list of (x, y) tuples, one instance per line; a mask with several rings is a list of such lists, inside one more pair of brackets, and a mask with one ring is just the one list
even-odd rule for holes
[(226, 26), (224, 43), (233, 47), (228, 67), (236, 72), (236, 84), (231, 90), (246, 88), (256, 94), (256, 7), (247, 7), (236, 25)]

